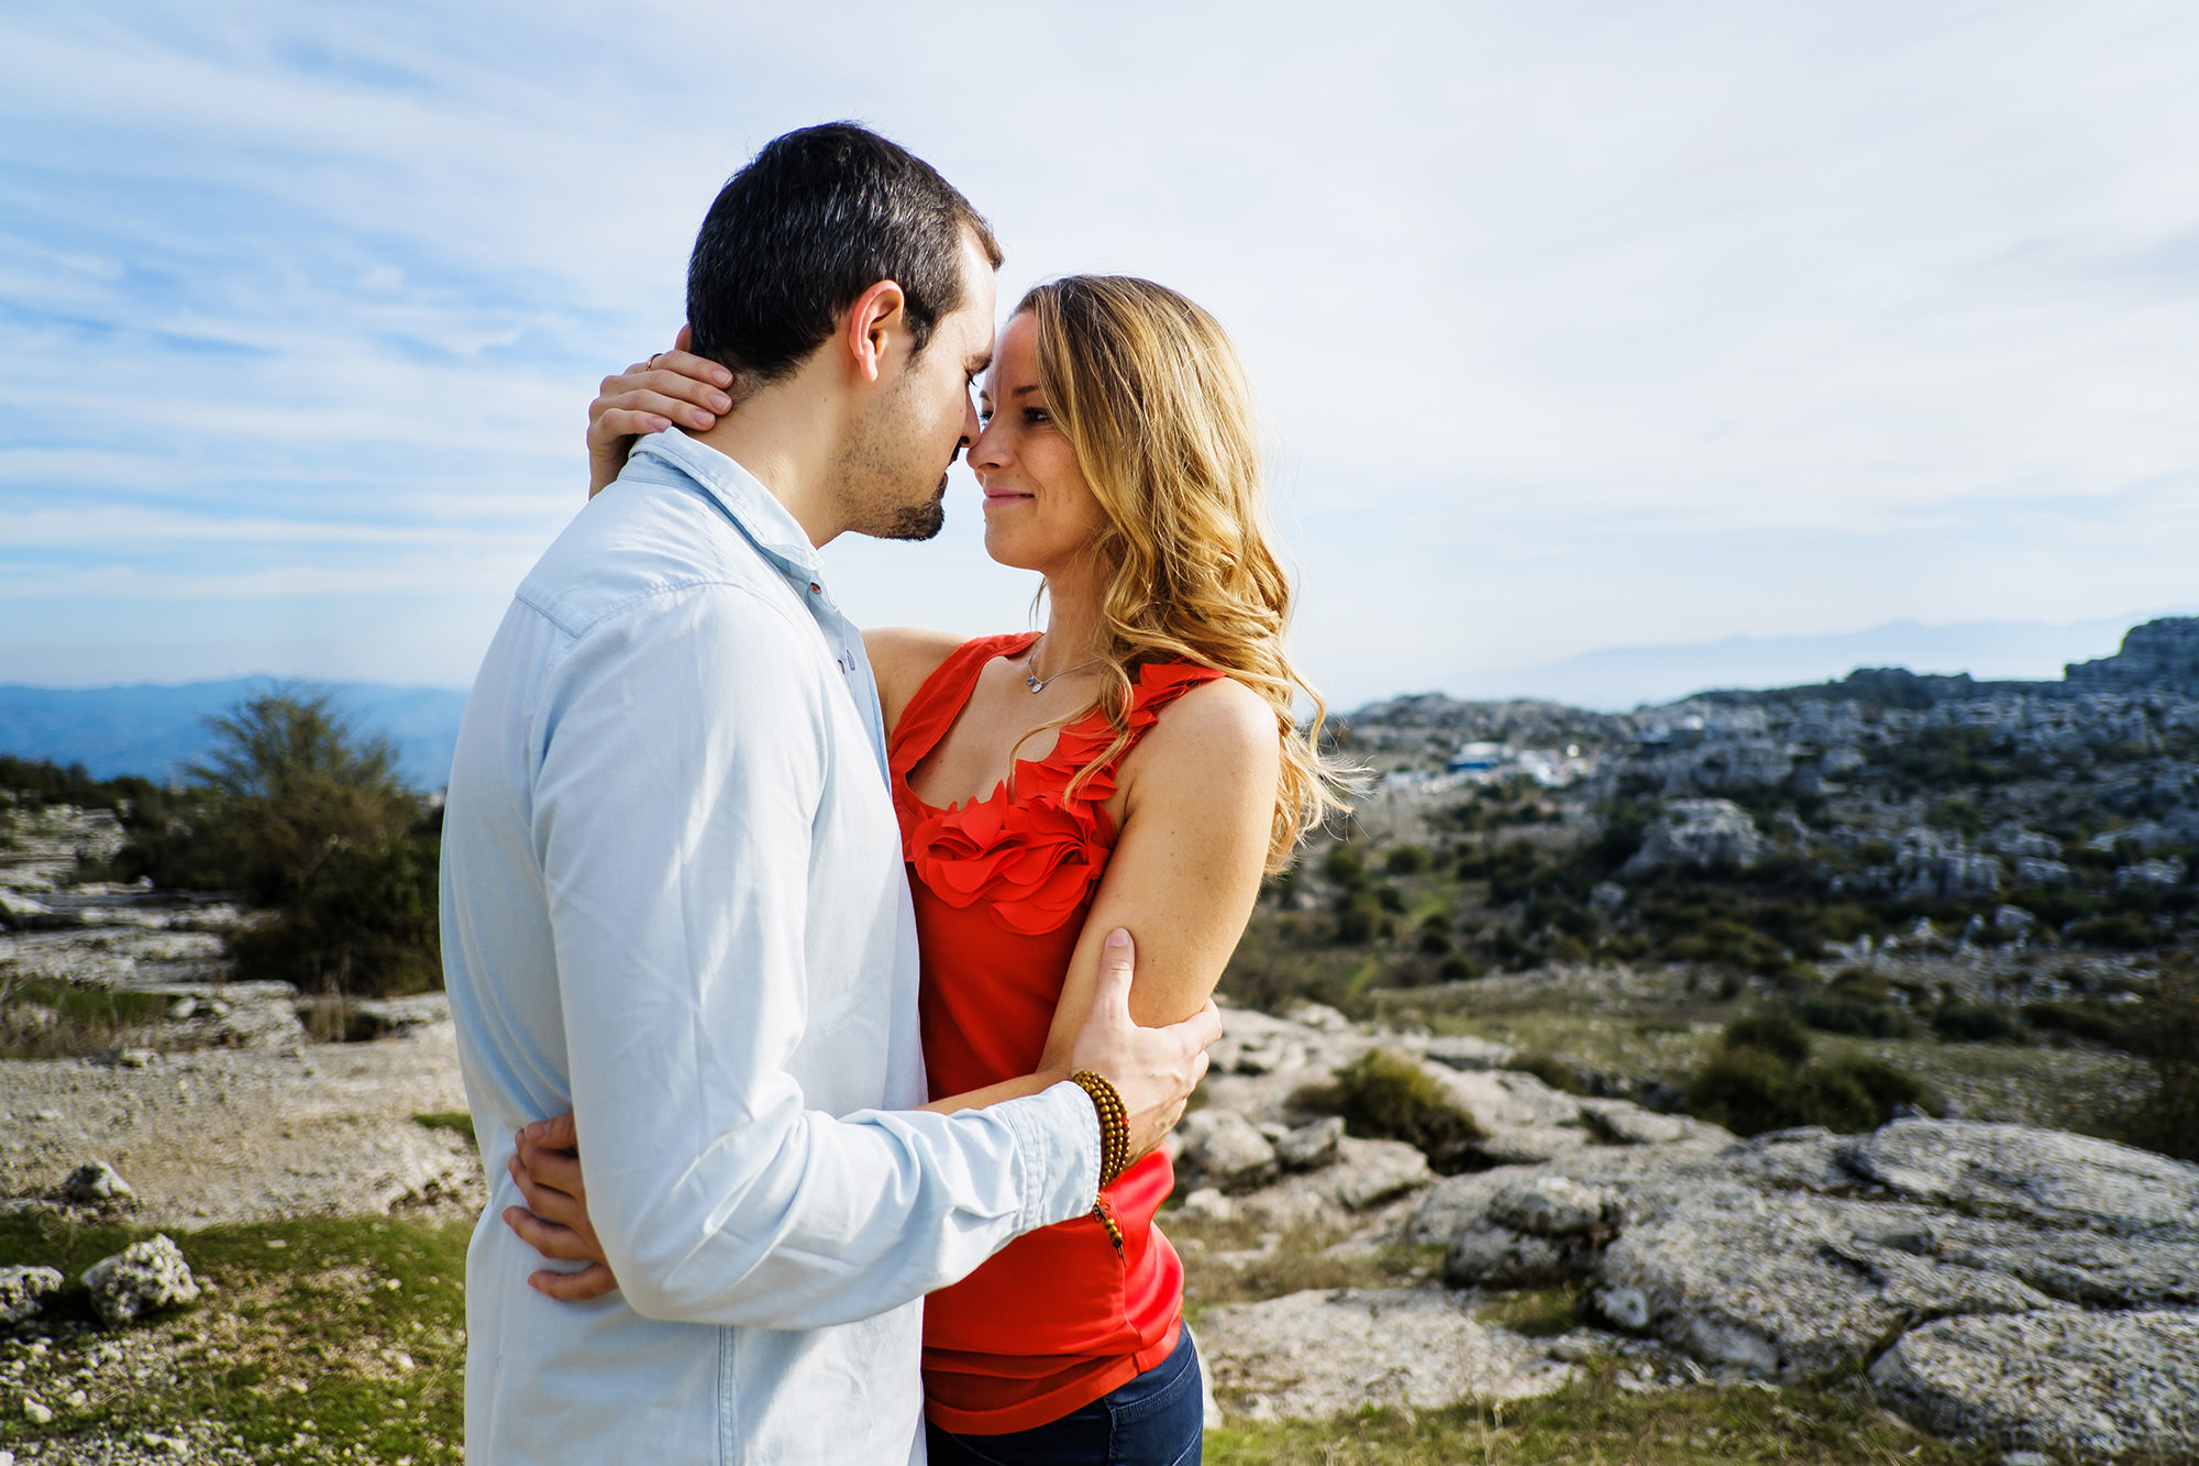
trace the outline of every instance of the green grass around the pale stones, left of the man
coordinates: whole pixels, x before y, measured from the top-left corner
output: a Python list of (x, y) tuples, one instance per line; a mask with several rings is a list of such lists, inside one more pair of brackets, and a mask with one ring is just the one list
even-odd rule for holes
[[(29, 1442), (207, 1422), (253, 1462), (457, 1462), (471, 1230), (396, 1217), (169, 1230), (213, 1290), (121, 1332), (88, 1323), (81, 1290), (64, 1299), (48, 1352), (15, 1354), (24, 1374), (11, 1393), (35, 1391), (55, 1404), (73, 1389), (64, 1380), (86, 1365), (97, 1385), (86, 1407), (57, 1409), (44, 1426), (18, 1418), (9, 1429)], [(0, 1217), (0, 1263), (51, 1266), (75, 1279), (150, 1235)], [(121, 1334), (154, 1334), (169, 1365), (147, 1382), (103, 1376), (99, 1352)], [(42, 1387), (42, 1378), (53, 1385)]]

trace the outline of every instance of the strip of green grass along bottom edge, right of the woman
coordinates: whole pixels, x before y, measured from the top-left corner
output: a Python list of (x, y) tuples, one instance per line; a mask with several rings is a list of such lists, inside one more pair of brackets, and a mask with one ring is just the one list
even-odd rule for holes
[(1207, 1466), (1983, 1466), (2001, 1453), (1922, 1435), (1863, 1387), (1700, 1387), (1629, 1393), (1616, 1360), (1539, 1400), (1440, 1411), (1366, 1409), (1326, 1422), (1207, 1431)]

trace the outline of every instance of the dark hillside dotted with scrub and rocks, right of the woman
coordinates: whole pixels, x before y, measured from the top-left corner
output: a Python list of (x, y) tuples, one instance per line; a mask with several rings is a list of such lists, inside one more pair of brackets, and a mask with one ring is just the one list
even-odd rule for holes
[[(1856, 671), (1627, 715), (1425, 696), (1341, 740), (1381, 775), (1361, 834), (1478, 847), (1473, 874), (1541, 898), (1469, 936), (1491, 966), (2199, 940), (2199, 619), (2063, 682)], [(1704, 936), (1691, 905), (1728, 927)]]

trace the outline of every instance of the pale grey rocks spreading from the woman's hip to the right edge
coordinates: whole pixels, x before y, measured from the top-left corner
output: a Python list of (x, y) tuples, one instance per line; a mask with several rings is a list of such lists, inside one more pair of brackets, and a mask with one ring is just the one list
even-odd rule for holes
[[(1251, 1415), (1546, 1393), (1596, 1356), (1643, 1389), (1858, 1376), (1944, 1435), (2071, 1459), (2199, 1453), (2199, 1167), (2063, 1131), (1898, 1120), (1735, 1140), (1493, 1068), (1487, 1043), (1370, 1035), (1330, 1010), (1227, 1015), (1183, 1127), (1192, 1217), (1443, 1248), (1412, 1288), (1295, 1292), (1201, 1316), (1218, 1400)], [(1473, 1116), (1476, 1164), (1330, 1134), (1293, 1094), (1368, 1048)], [(1526, 1338), (1476, 1316), (1577, 1290)]]

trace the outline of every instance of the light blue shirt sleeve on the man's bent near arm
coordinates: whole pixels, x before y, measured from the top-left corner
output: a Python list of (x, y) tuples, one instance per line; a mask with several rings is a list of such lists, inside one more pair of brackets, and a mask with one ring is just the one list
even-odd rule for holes
[(1075, 1085), (957, 1116), (805, 1107), (785, 1061), (836, 689), (800, 632), (743, 588), (666, 592), (545, 687), (532, 830), (587, 1202), (649, 1319), (864, 1319), (1097, 1191)]

